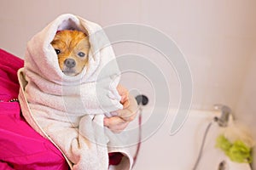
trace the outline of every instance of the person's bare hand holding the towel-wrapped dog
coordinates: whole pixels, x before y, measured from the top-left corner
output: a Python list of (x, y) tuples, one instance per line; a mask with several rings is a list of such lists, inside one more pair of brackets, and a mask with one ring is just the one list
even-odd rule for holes
[(126, 88), (118, 85), (117, 90), (121, 96), (120, 103), (123, 105), (122, 110), (115, 111), (116, 116), (105, 117), (104, 126), (108, 127), (113, 133), (120, 133), (133, 121), (137, 116), (137, 101), (129, 95)]

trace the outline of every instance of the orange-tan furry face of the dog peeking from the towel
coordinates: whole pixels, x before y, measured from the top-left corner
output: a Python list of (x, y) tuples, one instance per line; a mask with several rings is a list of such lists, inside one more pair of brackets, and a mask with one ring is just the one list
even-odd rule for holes
[(88, 63), (90, 43), (82, 31), (58, 31), (51, 42), (58, 55), (61, 71), (67, 76), (76, 76)]

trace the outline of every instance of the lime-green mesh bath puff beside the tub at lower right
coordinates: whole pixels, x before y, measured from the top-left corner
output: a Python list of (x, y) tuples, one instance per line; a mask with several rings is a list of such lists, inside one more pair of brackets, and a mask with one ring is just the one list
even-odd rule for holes
[(253, 161), (251, 149), (240, 140), (231, 144), (224, 135), (219, 135), (216, 139), (216, 147), (223, 150), (225, 155), (230, 157), (231, 161), (239, 163), (251, 163)]

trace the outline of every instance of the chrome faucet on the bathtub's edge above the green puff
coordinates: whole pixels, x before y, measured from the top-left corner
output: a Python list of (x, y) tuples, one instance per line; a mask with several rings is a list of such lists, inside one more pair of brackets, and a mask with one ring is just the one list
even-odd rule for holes
[(215, 118), (220, 127), (227, 127), (231, 116), (231, 109), (227, 105), (214, 105), (214, 109), (221, 111), (221, 116)]

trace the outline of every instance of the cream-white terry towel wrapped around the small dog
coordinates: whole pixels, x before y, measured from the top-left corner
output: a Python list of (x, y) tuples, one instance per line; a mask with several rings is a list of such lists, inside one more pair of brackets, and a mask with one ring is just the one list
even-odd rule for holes
[[(61, 30), (89, 36), (88, 65), (79, 75), (65, 75), (50, 42)], [(131, 169), (132, 158), (120, 135), (103, 126), (104, 116), (122, 109), (117, 91), (119, 67), (101, 26), (62, 14), (27, 43), (25, 65), (18, 72), (20, 107), (26, 121), (61, 150), (72, 169)], [(108, 167), (108, 153), (124, 155)]]

